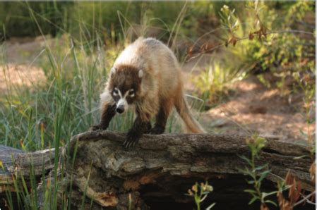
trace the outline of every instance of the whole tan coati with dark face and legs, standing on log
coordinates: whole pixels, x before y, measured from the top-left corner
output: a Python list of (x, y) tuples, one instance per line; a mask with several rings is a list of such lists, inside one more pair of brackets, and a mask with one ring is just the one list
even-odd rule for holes
[[(184, 98), (181, 70), (173, 52), (154, 38), (138, 38), (121, 52), (100, 95), (102, 116), (92, 130), (105, 130), (117, 113), (132, 107), (136, 119), (124, 147), (138, 142), (143, 133), (161, 134), (175, 106), (189, 132), (204, 132), (191, 116)], [(150, 120), (155, 116), (152, 128)]]

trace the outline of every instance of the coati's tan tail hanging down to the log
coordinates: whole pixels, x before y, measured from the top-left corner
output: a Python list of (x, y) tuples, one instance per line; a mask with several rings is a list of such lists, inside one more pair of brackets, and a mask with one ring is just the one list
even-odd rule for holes
[(201, 127), (201, 125), (196, 121), (195, 118), (193, 118), (184, 94), (181, 94), (180, 97), (174, 101), (174, 105), (177, 112), (179, 113), (179, 116), (181, 116), (186, 125), (187, 132), (205, 133), (205, 130)]

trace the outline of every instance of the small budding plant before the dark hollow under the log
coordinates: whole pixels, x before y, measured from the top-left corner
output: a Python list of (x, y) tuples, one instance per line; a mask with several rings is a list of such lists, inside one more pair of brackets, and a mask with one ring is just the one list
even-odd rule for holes
[[(201, 185), (196, 183), (191, 187), (191, 189), (188, 190), (188, 194), (186, 195), (193, 197), (197, 206), (197, 210), (201, 210), (201, 202), (206, 199), (210, 192), (213, 192), (213, 187), (208, 185), (208, 182), (201, 183)], [(211, 204), (206, 209), (211, 209), (213, 206), (215, 206), (215, 203)]]

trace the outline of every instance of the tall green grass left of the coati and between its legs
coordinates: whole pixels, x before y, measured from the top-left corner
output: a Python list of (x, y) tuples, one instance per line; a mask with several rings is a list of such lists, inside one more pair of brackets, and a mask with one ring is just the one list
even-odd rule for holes
[[(59, 180), (63, 178), (65, 166), (73, 165), (76, 156), (75, 152), (73, 157), (67, 159), (68, 163), (60, 162), (59, 147), (66, 145), (72, 135), (87, 131), (99, 121), (99, 95), (107, 80), (109, 68), (126, 42), (121, 39), (117, 45), (105, 46), (100, 31), (91, 32), (86, 23), (80, 21), (77, 23), (79, 33), (76, 36), (65, 32), (59, 37), (47, 38), (40, 24), (42, 17), (39, 18), (32, 7), (28, 6), (30, 18), (44, 39), (42, 49), (30, 63), (40, 67), (44, 79), (37, 82), (32, 80), (31, 85), (15, 85), (8, 79), (9, 61), (6, 58), (6, 45), (0, 46), (0, 63), (4, 64), (3, 73), (7, 89), (7, 92), (0, 95), (0, 144), (27, 152), (55, 149), (52, 183), (43, 181), (42, 189), (39, 190), (44, 194), (44, 209), (57, 209), (57, 195), (61, 187)], [(169, 29), (174, 31), (171, 39), (178, 35), (177, 28), (181, 25), (183, 15), (180, 15), (179, 21)], [(131, 25), (126, 23), (128, 19), (124, 14), (120, 16), (122, 37), (126, 37), (127, 28)], [(148, 27), (148, 23), (144, 21), (143, 24)], [(27, 75), (20, 76), (28, 78)], [(203, 106), (203, 101), (196, 98), (191, 98), (190, 103), (197, 109)], [(179, 123), (175, 125), (177, 118), (174, 114), (169, 118), (167, 132), (180, 130)], [(126, 132), (132, 123), (133, 113), (124, 113), (112, 120), (109, 130)], [(69, 161), (72, 163), (69, 164)], [(16, 192), (6, 192), (10, 209), (37, 209), (38, 192), (34, 174), (31, 165), (31, 186), (26, 184), (22, 175), (16, 174), (13, 180)], [(42, 180), (44, 178), (43, 168)], [(72, 180), (70, 183), (72, 185)], [(72, 186), (64, 192), (59, 201), (63, 209), (71, 208), (71, 192)], [(13, 202), (13, 197), (17, 198), (17, 202)], [(82, 206), (86, 199), (84, 194)]]

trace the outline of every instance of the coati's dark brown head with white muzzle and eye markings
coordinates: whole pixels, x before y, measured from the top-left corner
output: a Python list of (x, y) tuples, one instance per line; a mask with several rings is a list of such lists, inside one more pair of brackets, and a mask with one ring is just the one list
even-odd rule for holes
[(111, 69), (109, 91), (116, 101), (116, 112), (123, 113), (140, 96), (143, 70), (131, 66)]

